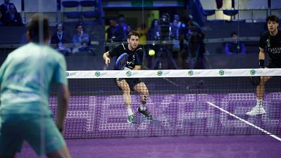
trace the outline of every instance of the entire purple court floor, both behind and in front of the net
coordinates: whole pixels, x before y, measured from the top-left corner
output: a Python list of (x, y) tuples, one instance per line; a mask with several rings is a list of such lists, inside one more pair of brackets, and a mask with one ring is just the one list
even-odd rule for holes
[[(254, 93), (150, 94), (147, 107), (153, 119), (137, 113), (137, 124), (126, 123), (122, 95), (84, 95), (70, 98), (65, 121), (64, 136), (73, 158), (281, 157), (281, 139), (263, 135), (280, 137), (280, 92), (266, 93), (266, 114), (253, 117), (246, 112), (256, 102)], [(140, 98), (132, 95), (131, 100), (136, 110)], [(51, 97), (54, 113), (55, 105)], [(25, 143), (17, 157), (37, 156)]]

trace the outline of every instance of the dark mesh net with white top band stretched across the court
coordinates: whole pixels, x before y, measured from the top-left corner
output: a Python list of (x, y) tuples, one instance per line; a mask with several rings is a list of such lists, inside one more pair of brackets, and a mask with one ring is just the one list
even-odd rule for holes
[[(121, 70), (67, 71), (71, 92), (65, 138), (281, 134), (281, 70)], [(272, 76), (263, 96), (264, 114), (248, 116), (256, 105), (249, 77)], [(141, 78), (148, 87), (146, 107), (131, 91), (136, 124), (127, 123), (123, 93), (116, 78)], [(51, 92), (55, 113), (55, 91)]]

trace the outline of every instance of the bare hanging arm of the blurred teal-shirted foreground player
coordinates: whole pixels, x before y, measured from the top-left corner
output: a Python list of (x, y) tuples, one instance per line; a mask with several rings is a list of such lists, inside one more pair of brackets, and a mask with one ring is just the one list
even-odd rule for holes
[(63, 131), (63, 122), (67, 114), (68, 99), (70, 92), (65, 84), (58, 84), (58, 107), (57, 107), (57, 126), (60, 132)]

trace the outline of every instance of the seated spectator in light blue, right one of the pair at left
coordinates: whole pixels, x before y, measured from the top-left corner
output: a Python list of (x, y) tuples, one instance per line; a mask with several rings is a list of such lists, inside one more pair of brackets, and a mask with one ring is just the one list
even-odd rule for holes
[(79, 51), (88, 51), (91, 52), (89, 47), (90, 37), (89, 34), (83, 32), (83, 26), (81, 24), (76, 25), (77, 34), (74, 34), (72, 41), (74, 48), (72, 53), (77, 53)]

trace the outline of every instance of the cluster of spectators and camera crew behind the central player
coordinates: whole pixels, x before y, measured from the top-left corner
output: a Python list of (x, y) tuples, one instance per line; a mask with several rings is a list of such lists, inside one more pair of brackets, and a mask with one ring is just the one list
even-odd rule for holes
[[(178, 13), (175, 13), (172, 18), (168, 13), (162, 13), (161, 17), (152, 20), (149, 28), (145, 23), (137, 28), (132, 28), (124, 19), (124, 15), (109, 19), (110, 26), (106, 29), (107, 42), (125, 41), (126, 34), (132, 29), (137, 30), (140, 34), (140, 44), (145, 49), (144, 62), (148, 69), (204, 68), (204, 32), (192, 19), (192, 15), (189, 15), (186, 22), (183, 22)], [(164, 40), (169, 41), (169, 44), (157, 43), (157, 41)], [(156, 41), (157, 44), (151, 44), (152, 41)], [(110, 48), (110, 46), (107, 47), (105, 51)], [(155, 55), (149, 55), (150, 50), (155, 51)], [(170, 59), (176, 61), (174, 67), (170, 67), (170, 61), (162, 57), (168, 53), (171, 55)], [(159, 58), (157, 63), (154, 63), (155, 58)], [(166, 67), (161, 65), (166, 65)]]

